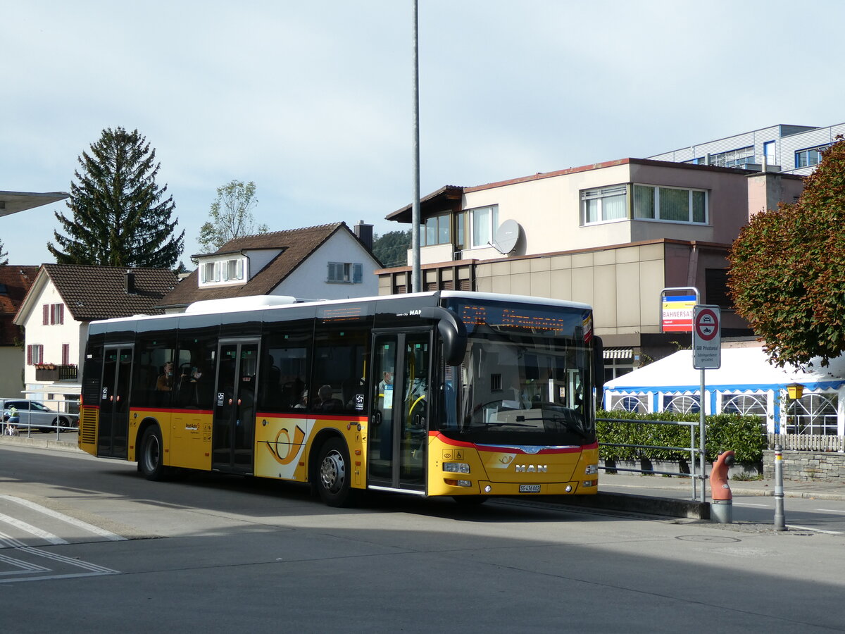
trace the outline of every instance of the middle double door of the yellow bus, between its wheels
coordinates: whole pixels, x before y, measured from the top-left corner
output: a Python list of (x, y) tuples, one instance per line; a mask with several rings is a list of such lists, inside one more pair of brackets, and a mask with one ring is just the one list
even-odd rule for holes
[(211, 468), (253, 473), (259, 342), (221, 342), (211, 435)]

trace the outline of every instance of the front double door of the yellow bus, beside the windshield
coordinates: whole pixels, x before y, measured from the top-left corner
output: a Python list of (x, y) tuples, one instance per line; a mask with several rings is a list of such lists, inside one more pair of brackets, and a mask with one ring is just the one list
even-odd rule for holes
[(373, 335), (368, 485), (424, 493), (432, 331)]

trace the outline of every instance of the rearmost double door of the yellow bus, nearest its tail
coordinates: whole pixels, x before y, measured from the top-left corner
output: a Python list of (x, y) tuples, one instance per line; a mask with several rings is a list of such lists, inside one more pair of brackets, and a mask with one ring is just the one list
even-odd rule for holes
[(126, 458), (132, 347), (106, 347), (103, 356), (97, 456)]

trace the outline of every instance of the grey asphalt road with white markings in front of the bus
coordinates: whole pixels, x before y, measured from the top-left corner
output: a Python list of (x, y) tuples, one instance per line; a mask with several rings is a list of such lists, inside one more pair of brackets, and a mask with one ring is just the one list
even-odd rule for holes
[(845, 631), (845, 537), (466, 509), (0, 446), (4, 630)]

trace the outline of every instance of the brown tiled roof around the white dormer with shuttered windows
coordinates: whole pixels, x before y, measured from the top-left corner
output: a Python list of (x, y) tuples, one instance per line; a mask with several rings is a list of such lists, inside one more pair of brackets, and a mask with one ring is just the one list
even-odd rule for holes
[(237, 253), (253, 249), (283, 249), (261, 271), (254, 273), (247, 283), (239, 286), (199, 288), (199, 269), (185, 277), (179, 285), (161, 301), (161, 306), (187, 306), (200, 299), (239, 298), (251, 295), (269, 295), (297, 266), (335, 232), (346, 231), (353, 239), (345, 222), (330, 225), (289, 229), (256, 236), (235, 238), (217, 249), (215, 254)]

